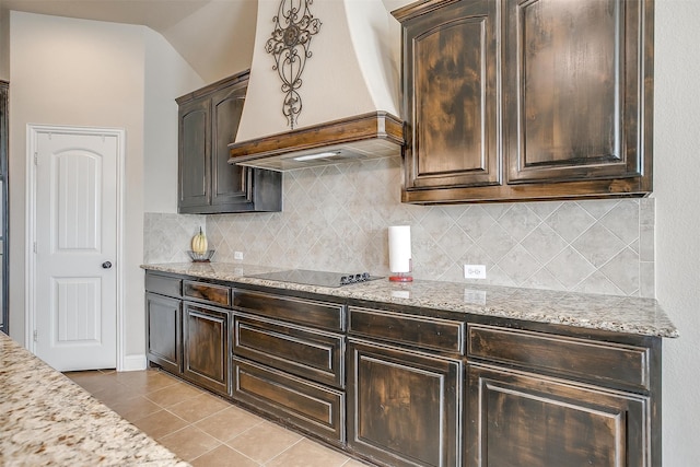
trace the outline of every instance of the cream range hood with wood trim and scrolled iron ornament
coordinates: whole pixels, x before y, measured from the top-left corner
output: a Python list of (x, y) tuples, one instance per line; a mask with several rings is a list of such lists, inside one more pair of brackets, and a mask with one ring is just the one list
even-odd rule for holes
[[(285, 21), (293, 8), (296, 19)], [(229, 163), (288, 171), (400, 155), (399, 37), (381, 0), (258, 0)], [(291, 66), (289, 51), (298, 54)], [(299, 87), (289, 85), (293, 77), (301, 78)]]

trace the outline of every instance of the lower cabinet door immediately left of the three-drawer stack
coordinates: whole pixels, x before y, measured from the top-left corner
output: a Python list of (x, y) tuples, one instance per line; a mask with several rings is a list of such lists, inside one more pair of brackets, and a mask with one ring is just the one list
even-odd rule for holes
[(229, 312), (185, 302), (183, 376), (229, 395)]

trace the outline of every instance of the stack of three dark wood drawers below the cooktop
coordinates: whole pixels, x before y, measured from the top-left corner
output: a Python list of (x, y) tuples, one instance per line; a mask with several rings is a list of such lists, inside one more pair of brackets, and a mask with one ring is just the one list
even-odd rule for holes
[(272, 289), (233, 304), (233, 399), (345, 445), (345, 305)]

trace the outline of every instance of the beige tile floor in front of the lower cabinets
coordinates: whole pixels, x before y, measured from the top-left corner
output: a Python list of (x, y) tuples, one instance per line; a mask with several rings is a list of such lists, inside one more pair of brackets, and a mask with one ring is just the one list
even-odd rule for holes
[(362, 467), (158, 370), (68, 377), (195, 467)]

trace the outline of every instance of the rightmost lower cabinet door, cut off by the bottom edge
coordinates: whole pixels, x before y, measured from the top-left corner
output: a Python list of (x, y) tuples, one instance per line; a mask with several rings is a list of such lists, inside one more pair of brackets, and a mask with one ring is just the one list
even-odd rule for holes
[(479, 365), (467, 384), (468, 466), (651, 466), (646, 397)]

